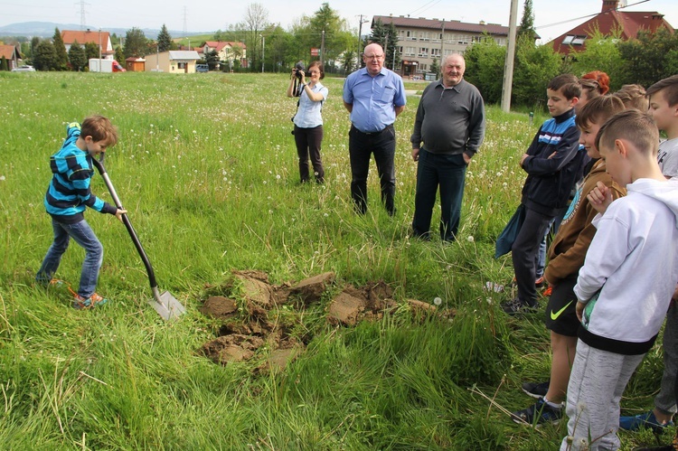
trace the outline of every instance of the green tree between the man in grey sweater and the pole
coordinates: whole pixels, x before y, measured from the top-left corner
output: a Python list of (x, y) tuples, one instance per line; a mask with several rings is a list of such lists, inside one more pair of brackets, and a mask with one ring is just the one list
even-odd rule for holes
[(464, 58), (464, 79), (476, 85), (486, 103), (499, 103), (502, 100), (506, 47), (494, 39), (484, 39), (466, 49)]

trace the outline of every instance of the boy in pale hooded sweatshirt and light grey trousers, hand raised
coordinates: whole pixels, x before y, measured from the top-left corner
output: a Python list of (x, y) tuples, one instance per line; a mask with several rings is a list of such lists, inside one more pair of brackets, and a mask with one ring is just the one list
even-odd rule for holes
[(574, 293), (581, 321), (560, 450), (619, 448), (619, 399), (653, 345), (678, 282), (678, 183), (657, 164), (659, 132), (636, 109), (610, 117), (596, 146), (627, 195), (604, 183), (588, 195), (598, 229)]

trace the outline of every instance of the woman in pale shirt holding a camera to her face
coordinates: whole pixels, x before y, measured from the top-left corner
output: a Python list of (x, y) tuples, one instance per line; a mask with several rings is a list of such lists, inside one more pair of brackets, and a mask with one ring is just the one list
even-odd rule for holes
[[(320, 158), (320, 145), (323, 142), (323, 117), (321, 111), (323, 102), (327, 99), (328, 90), (320, 83), (325, 78), (320, 61), (313, 61), (308, 66), (310, 80), (306, 82), (306, 73), (301, 64), (292, 70), (292, 78), (289, 80), (287, 97), (298, 97), (297, 114), (292, 118), (295, 129), (292, 134), (297, 144), (299, 155), (299, 175), (301, 183), (309, 181), (308, 157), (315, 174), (315, 182), (325, 182), (325, 170)], [(297, 86), (298, 82), (298, 86)]]

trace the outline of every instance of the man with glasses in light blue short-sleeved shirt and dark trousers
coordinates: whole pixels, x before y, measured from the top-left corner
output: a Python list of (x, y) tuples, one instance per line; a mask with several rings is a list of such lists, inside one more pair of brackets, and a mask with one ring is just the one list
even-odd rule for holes
[(351, 113), (348, 151), (351, 158), (351, 197), (356, 210), (367, 211), (367, 175), (374, 154), (381, 184), (381, 202), (395, 212), (395, 130), (393, 122), (405, 109), (405, 86), (400, 75), (383, 67), (381, 45), (371, 43), (363, 52), (365, 66), (346, 78), (344, 107)]

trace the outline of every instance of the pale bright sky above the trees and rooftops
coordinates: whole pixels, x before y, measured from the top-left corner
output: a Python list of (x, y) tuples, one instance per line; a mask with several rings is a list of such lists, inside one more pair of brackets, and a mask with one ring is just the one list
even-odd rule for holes
[[(201, 0), (0, 0), (0, 26), (22, 22), (74, 23), (83, 16), (90, 28), (151, 28), (163, 23), (172, 31), (211, 33), (227, 30), (240, 22), (251, 3), (259, 3), (268, 11), (268, 20), (283, 28), (295, 23), (303, 14), (313, 15), (325, 0), (288, 2), (280, 0), (224, 1)], [(466, 23), (509, 24), (510, 0), (326, 0), (349, 25), (358, 29), (361, 17), (363, 34), (369, 30), (372, 15), (404, 15), (427, 19), (458, 20)], [(517, 21), (523, 15), (524, 0), (519, 0)], [(625, 11), (649, 11), (664, 14), (664, 19), (678, 28), (678, 1), (627, 0)], [(472, 6), (471, 6), (472, 5)], [(563, 9), (562, 6), (567, 8)], [(534, 24), (542, 42), (567, 32), (588, 20), (602, 9), (602, 0), (532, 0)], [(153, 38), (153, 36), (149, 36)], [(181, 37), (173, 34), (173, 37)]]

